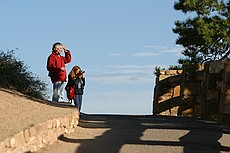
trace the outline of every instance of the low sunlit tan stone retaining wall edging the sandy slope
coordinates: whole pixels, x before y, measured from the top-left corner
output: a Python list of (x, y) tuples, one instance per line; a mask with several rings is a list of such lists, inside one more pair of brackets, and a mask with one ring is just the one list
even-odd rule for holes
[(0, 142), (0, 153), (38, 151), (45, 145), (57, 141), (59, 136), (74, 132), (78, 122), (79, 112), (76, 110), (72, 114), (33, 125)]

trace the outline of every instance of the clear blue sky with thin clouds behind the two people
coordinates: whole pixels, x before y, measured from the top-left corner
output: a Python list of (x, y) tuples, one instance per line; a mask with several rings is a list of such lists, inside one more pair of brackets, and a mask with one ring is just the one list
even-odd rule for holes
[(1, 0), (0, 50), (48, 84), (46, 60), (61, 42), (86, 71), (82, 112), (152, 114), (154, 70), (178, 65), (182, 46), (172, 32), (186, 16), (175, 0)]

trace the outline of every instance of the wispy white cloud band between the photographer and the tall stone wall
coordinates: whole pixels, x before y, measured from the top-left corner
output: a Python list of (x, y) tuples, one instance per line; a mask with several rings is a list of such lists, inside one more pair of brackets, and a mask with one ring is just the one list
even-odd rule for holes
[[(94, 71), (96, 72), (96, 71)], [(110, 65), (103, 71), (87, 76), (93, 82), (106, 84), (153, 83), (154, 65)]]

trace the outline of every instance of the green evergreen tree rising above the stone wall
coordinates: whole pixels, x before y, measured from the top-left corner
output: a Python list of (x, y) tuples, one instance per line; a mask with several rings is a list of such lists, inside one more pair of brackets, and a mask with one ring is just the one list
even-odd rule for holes
[(179, 0), (174, 8), (193, 14), (173, 29), (186, 56), (180, 64), (230, 58), (230, 0)]

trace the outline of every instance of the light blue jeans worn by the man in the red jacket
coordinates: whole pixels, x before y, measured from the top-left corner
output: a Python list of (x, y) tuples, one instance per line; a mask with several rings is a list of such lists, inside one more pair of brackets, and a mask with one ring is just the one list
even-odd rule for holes
[(54, 82), (53, 83), (53, 97), (52, 97), (52, 101), (63, 101), (64, 100), (64, 87), (65, 84), (64, 82)]

